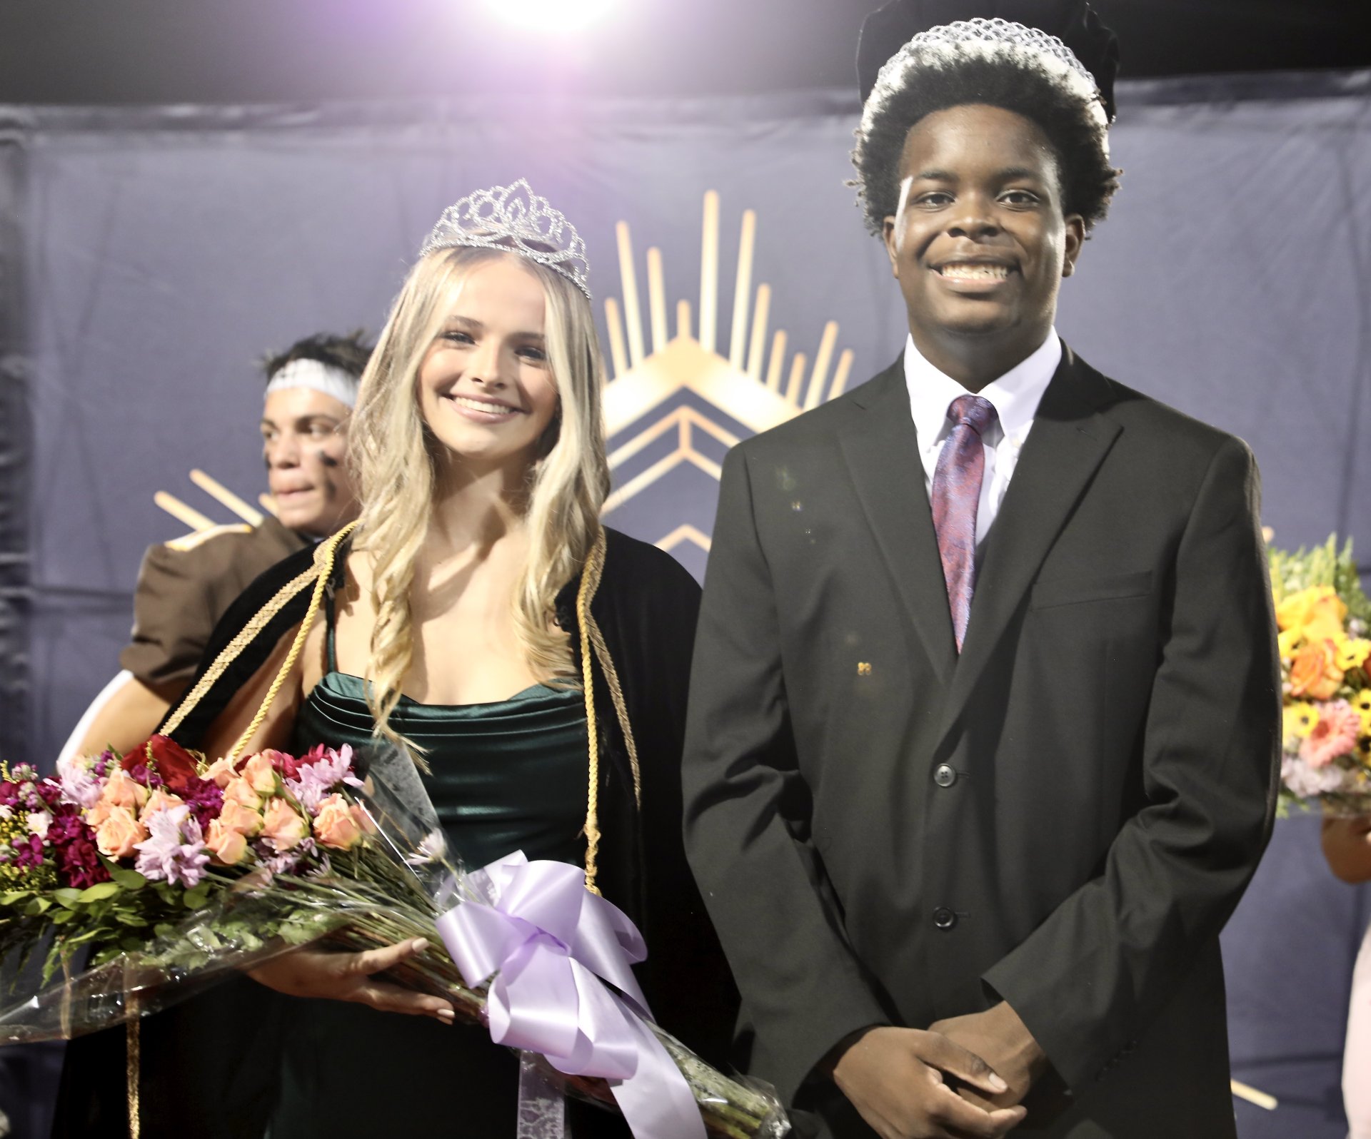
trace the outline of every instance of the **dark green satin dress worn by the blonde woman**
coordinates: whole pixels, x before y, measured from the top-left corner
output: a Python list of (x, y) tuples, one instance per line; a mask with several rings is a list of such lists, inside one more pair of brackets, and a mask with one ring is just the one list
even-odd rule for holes
[[(333, 661), (296, 717), (299, 752), (372, 744), (359, 677)], [(585, 709), (577, 691), (535, 685), (488, 705), (402, 698), (395, 728), (428, 748), (424, 781), (450, 848), (469, 868), (514, 850), (580, 864), (585, 821)], [(484, 1028), (380, 1013), (336, 1001), (287, 1001), (282, 1083), (271, 1139), (472, 1136), (513, 1139), (518, 1062)], [(610, 1116), (596, 1112), (605, 1124)], [(600, 1121), (572, 1124), (577, 1135)]]

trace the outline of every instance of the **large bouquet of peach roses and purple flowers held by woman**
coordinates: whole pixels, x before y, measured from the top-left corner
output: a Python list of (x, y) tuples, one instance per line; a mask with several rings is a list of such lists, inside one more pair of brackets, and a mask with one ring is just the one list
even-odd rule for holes
[[(622, 918), (572, 879), (572, 927), (583, 903), (613, 911), (610, 927)], [(498, 891), (487, 872), (468, 876), (448, 861), (418, 772), (393, 748), (365, 762), (350, 747), (324, 746), (303, 757), (262, 751), (210, 762), (154, 736), (128, 755), (63, 763), (56, 779), (0, 766), (0, 953), (11, 985), (41, 958), (37, 991), (0, 1007), (3, 1043), (70, 1039), (121, 1022), (136, 1031), (138, 1017), (230, 970), (321, 939), (354, 951), (425, 939), (428, 948), (396, 966), (391, 980), (443, 996), (470, 1024), (491, 1021), (492, 991), (495, 1010), (507, 1013), (505, 958), (468, 961), (463, 975), (439, 933), (463, 907), (495, 913)], [(536, 924), (503, 909), (498, 920), (524, 931), (526, 943), (548, 942)], [(576, 955), (572, 927), (561, 932), (554, 968)], [(518, 946), (517, 938), (506, 942)], [(75, 970), (81, 950), (89, 957)], [(594, 962), (590, 969), (636, 991), (627, 964), (633, 959), (621, 975)], [(580, 968), (566, 965), (573, 966)], [(584, 988), (581, 977), (576, 985)], [(639, 1007), (616, 994), (609, 999)], [(638, 1018), (628, 1021), (638, 1031)], [(710, 1134), (749, 1139), (788, 1129), (775, 1098), (716, 1072), (650, 1021), (642, 1031), (655, 1039), (673, 1077), (679, 1070), (686, 1113), (694, 1120), (694, 1099)], [(621, 1081), (588, 1075), (594, 1065), (551, 1054), (537, 1062), (555, 1090), (614, 1105)]]

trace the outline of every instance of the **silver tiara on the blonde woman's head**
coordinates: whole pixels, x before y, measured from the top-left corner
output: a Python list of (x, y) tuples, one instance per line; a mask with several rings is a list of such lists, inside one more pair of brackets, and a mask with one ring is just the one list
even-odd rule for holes
[(509, 249), (561, 273), (591, 299), (585, 243), (566, 218), (539, 197), (524, 178), (509, 186), (476, 191), (443, 211), (420, 256), (458, 245)]

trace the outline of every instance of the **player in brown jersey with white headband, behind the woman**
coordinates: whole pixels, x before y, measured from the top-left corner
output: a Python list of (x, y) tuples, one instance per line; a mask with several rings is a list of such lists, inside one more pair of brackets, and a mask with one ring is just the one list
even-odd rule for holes
[(248, 584), (356, 517), (347, 419), (372, 351), (361, 333), (319, 333), (266, 360), (262, 456), (277, 514), (152, 546), (133, 593), (126, 676), (92, 718), (75, 754), (143, 743), (181, 698), (219, 617)]

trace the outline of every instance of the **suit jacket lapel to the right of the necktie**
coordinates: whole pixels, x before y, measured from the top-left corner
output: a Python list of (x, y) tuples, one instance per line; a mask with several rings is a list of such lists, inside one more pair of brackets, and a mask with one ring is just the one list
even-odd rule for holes
[(1119, 424), (1095, 410), (1102, 382), (1069, 348), (1064, 350), (986, 540), (943, 735), (975, 691), (1038, 567), (1119, 434)]

